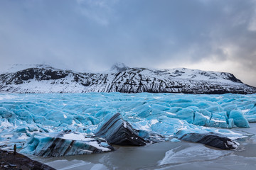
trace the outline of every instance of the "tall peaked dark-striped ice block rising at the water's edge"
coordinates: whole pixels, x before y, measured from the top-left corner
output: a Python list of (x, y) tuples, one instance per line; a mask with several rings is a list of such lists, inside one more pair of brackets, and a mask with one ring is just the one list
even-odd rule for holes
[(139, 137), (132, 126), (122, 119), (120, 113), (114, 114), (110, 120), (100, 126), (95, 135), (104, 138), (113, 145), (146, 145), (145, 140)]

